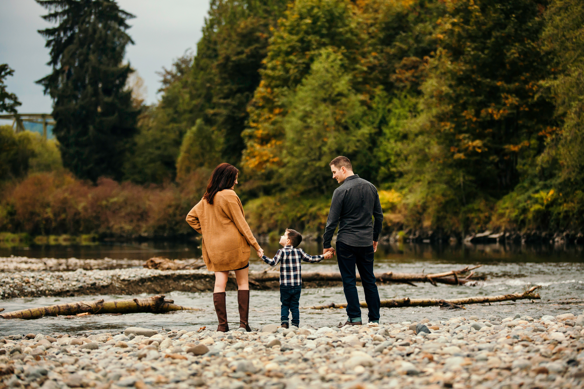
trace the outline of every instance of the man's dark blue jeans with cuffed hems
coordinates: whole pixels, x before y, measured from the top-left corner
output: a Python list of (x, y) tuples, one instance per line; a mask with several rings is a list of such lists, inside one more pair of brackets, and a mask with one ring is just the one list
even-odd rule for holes
[(343, 242), (336, 242), (336, 255), (339, 262), (340, 276), (343, 279), (343, 290), (347, 299), (347, 316), (349, 321), (361, 317), (359, 296), (357, 295), (357, 276), (355, 265), (361, 276), (361, 284), (365, 291), (365, 301), (369, 309), (369, 321), (379, 320), (379, 293), (373, 274), (373, 245), (349, 246)]

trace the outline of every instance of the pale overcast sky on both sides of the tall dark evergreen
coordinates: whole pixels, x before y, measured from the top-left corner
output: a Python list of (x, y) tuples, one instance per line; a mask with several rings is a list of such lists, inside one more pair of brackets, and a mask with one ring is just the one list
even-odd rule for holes
[[(117, 0), (120, 8), (133, 13), (128, 20), (128, 34), (134, 45), (128, 45), (126, 60), (144, 78), (148, 103), (159, 95), (162, 67), (169, 68), (174, 58), (185, 50), (196, 50), (201, 37), (208, 0)], [(37, 30), (50, 26), (40, 18), (47, 11), (34, 0), (0, 0), (0, 63), (15, 70), (6, 79), (8, 91), (16, 93), (22, 106), (20, 113), (50, 113), (51, 99), (43, 88), (34, 84), (50, 72), (46, 65), (48, 50)]]

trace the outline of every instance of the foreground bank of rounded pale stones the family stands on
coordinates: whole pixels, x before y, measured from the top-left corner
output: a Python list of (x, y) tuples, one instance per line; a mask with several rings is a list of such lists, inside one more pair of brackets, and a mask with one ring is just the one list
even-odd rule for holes
[(568, 313), (340, 329), (11, 335), (0, 338), (0, 387), (581, 388), (583, 325), (584, 315)]

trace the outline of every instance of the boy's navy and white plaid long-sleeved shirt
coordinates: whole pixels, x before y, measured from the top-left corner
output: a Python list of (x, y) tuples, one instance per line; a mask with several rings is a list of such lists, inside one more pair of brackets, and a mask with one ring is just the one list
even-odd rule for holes
[(280, 285), (286, 286), (302, 284), (300, 261), (316, 263), (321, 262), (324, 258), (324, 255), (308, 255), (303, 249), (297, 249), (291, 245), (279, 249), (274, 258), (262, 256), (263, 262), (270, 266), (276, 266), (280, 262)]

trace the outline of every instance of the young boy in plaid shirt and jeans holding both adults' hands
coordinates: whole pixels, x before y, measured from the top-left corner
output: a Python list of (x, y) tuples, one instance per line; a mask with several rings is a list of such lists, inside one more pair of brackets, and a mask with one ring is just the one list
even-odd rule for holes
[(276, 266), (280, 262), (280, 302), (282, 303), (281, 322), (283, 328), (288, 328), (288, 311), (292, 312), (292, 325), (300, 326), (300, 311), (298, 310), (300, 291), (302, 290), (300, 261), (316, 263), (332, 256), (332, 251), (326, 252), (326, 255), (310, 256), (303, 249), (296, 248), (300, 242), (302, 242), (300, 232), (287, 228), (284, 235), (280, 237), (280, 244), (284, 248), (279, 249), (274, 258), (262, 256), (263, 262), (270, 266)]

